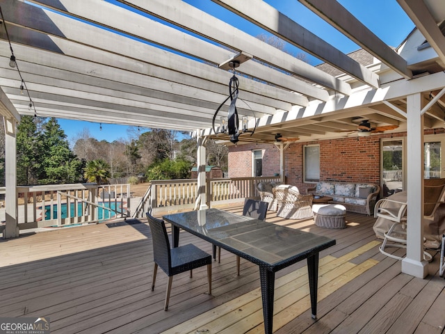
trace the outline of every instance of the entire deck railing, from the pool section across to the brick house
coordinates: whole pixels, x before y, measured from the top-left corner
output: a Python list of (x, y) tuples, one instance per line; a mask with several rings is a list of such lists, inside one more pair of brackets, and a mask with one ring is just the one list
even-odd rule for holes
[[(207, 180), (207, 205), (258, 198), (256, 184), (280, 177), (234, 177)], [(1, 189), (0, 189), (1, 190)], [(132, 216), (145, 217), (149, 210), (193, 209), (197, 200), (196, 179), (156, 180), (141, 198)], [(18, 223), (21, 229), (58, 227), (127, 217), (130, 212), (130, 184), (54, 184), (17, 186)], [(58, 212), (65, 212), (63, 216)]]

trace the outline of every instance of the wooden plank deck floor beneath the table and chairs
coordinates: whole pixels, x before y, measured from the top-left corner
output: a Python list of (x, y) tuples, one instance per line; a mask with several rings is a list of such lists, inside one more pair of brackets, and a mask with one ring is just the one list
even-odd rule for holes
[[(230, 208), (241, 214), (241, 206)], [(268, 212), (268, 221), (337, 239), (321, 253), (318, 319), (309, 311), (305, 262), (279, 271), (275, 333), (444, 333), (445, 280), (439, 254), (426, 279), (401, 273), (378, 251), (373, 217), (348, 214), (348, 228), (317, 228)], [(127, 221), (131, 223), (131, 221)], [(168, 312), (166, 276), (151, 291), (152, 244), (145, 223), (60, 228), (0, 241), (0, 317), (49, 317), (51, 333), (264, 333), (258, 267), (222, 250), (206, 269), (175, 276)], [(211, 253), (211, 245), (186, 232)], [(400, 250), (398, 250), (400, 251)]]

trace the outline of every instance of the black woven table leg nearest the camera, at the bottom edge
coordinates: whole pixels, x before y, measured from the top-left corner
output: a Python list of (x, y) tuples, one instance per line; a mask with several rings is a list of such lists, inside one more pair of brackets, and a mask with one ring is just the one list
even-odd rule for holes
[(259, 266), (259, 280), (261, 283), (261, 299), (263, 300), (264, 333), (272, 334), (275, 273)]

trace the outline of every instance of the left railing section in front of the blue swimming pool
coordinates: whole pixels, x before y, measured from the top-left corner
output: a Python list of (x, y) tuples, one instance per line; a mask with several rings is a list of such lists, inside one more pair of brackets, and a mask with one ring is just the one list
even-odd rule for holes
[(20, 229), (86, 224), (127, 217), (130, 184), (17, 186)]

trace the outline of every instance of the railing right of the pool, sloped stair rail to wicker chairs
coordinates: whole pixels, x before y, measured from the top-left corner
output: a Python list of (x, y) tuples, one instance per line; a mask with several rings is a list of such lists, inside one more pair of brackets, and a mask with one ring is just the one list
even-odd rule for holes
[[(235, 202), (242, 198), (259, 197), (255, 185), (262, 181), (277, 181), (280, 177), (234, 177), (209, 179), (206, 184), (207, 205)], [(142, 218), (152, 209), (154, 212), (165, 207), (193, 209), (197, 200), (197, 180), (157, 180), (151, 181), (149, 189), (133, 212), (133, 217)]]

